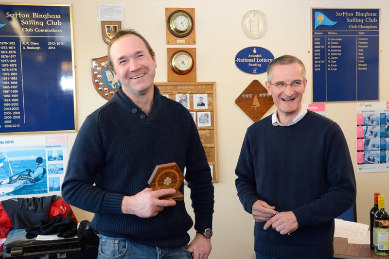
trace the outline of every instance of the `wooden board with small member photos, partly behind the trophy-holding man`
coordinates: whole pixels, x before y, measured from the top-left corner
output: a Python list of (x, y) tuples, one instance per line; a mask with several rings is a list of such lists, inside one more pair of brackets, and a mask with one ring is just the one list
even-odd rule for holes
[(162, 95), (188, 108), (211, 168), (212, 182), (218, 182), (215, 82), (170, 82), (155, 85)]

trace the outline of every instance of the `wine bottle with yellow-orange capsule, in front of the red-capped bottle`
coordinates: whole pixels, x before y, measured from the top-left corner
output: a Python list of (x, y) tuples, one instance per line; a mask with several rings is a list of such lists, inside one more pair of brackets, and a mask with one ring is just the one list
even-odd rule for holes
[(389, 256), (389, 214), (384, 207), (385, 197), (379, 195), (374, 214), (374, 254), (378, 256)]

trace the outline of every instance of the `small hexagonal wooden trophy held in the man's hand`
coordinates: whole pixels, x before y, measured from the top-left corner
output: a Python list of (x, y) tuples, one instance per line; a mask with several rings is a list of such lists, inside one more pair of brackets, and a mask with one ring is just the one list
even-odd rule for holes
[(175, 189), (175, 194), (165, 195), (160, 199), (173, 199), (175, 201), (182, 201), (184, 195), (178, 190), (184, 180), (184, 175), (179, 169), (178, 165), (173, 163), (157, 165), (154, 172), (151, 174), (148, 184), (153, 190), (161, 189)]

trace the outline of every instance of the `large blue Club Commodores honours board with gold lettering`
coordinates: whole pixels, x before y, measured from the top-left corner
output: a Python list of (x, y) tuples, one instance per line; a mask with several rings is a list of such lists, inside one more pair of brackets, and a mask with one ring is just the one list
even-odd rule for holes
[(70, 4), (0, 4), (0, 134), (75, 131)]

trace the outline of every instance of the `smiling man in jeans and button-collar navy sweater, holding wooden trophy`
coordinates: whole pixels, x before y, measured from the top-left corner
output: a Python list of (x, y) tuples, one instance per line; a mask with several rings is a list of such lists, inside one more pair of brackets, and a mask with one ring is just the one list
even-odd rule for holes
[[(148, 42), (120, 31), (108, 57), (122, 87), (83, 123), (62, 185), (64, 199), (94, 212), (99, 258), (208, 258), (211, 252), (213, 186), (210, 167), (188, 109), (159, 94), (157, 67)], [(147, 181), (156, 165), (176, 162), (191, 189), (197, 235), (183, 201), (159, 197)], [(179, 187), (184, 193), (183, 185)]]

